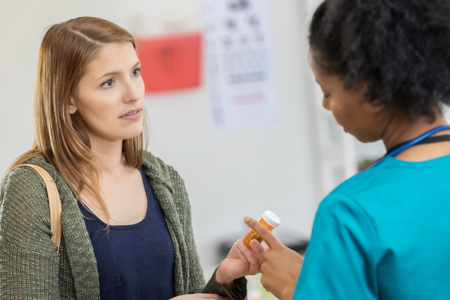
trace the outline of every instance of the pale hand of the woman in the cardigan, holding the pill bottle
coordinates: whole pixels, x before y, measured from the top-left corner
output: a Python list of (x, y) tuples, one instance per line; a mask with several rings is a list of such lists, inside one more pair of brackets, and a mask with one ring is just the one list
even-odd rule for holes
[[(261, 246), (264, 251), (264, 248)], [(216, 272), (217, 282), (227, 286), (234, 279), (259, 272), (259, 259), (242, 240), (237, 240)]]

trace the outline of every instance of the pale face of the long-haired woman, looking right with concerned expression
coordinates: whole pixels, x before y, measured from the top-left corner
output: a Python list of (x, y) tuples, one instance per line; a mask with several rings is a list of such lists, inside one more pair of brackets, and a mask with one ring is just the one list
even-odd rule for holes
[(122, 141), (143, 129), (144, 82), (140, 62), (129, 42), (108, 44), (86, 66), (71, 97), (91, 141)]

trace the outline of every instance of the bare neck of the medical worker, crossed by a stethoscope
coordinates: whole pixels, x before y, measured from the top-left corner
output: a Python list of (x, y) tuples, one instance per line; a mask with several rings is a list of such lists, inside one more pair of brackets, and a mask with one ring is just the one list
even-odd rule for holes
[[(413, 140), (425, 132), (445, 124), (447, 124), (447, 120), (440, 112), (436, 112), (436, 118), (432, 123), (428, 117), (424, 116), (411, 122), (407, 116), (396, 115), (387, 124), (382, 140), (386, 150), (390, 150), (400, 143)], [(434, 136), (446, 134), (450, 134), (450, 130), (440, 131)], [(450, 142), (447, 141), (416, 145), (398, 154), (396, 158), (406, 161), (424, 161), (448, 154), (450, 154)]]

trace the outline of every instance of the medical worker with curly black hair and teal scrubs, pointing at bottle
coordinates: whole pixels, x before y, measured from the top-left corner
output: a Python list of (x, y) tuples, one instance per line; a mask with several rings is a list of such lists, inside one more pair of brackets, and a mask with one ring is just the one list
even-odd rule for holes
[[(321, 202), (303, 258), (254, 219), (281, 299), (450, 299), (450, 1), (326, 0), (308, 60), (323, 107), (387, 154)], [(300, 201), (301, 199), (299, 199)]]

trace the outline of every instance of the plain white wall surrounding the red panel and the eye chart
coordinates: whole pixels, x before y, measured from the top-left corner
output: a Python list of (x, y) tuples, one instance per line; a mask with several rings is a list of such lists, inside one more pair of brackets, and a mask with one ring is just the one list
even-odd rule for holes
[[(217, 243), (238, 238), (246, 215), (265, 209), (282, 219), (279, 233), (308, 236), (318, 198), (314, 151), (314, 97), (307, 71), (306, 8), (303, 1), (273, 1), (277, 63), (277, 124), (233, 132), (214, 130), (207, 87), (149, 95), (150, 150), (173, 165), (186, 182), (194, 232), (208, 273)], [(33, 139), (34, 73), (45, 28), (90, 15), (133, 31), (142, 18), (200, 14), (199, 0), (5, 1), (0, 10), (0, 172)], [(207, 274), (209, 276), (209, 274)]]

